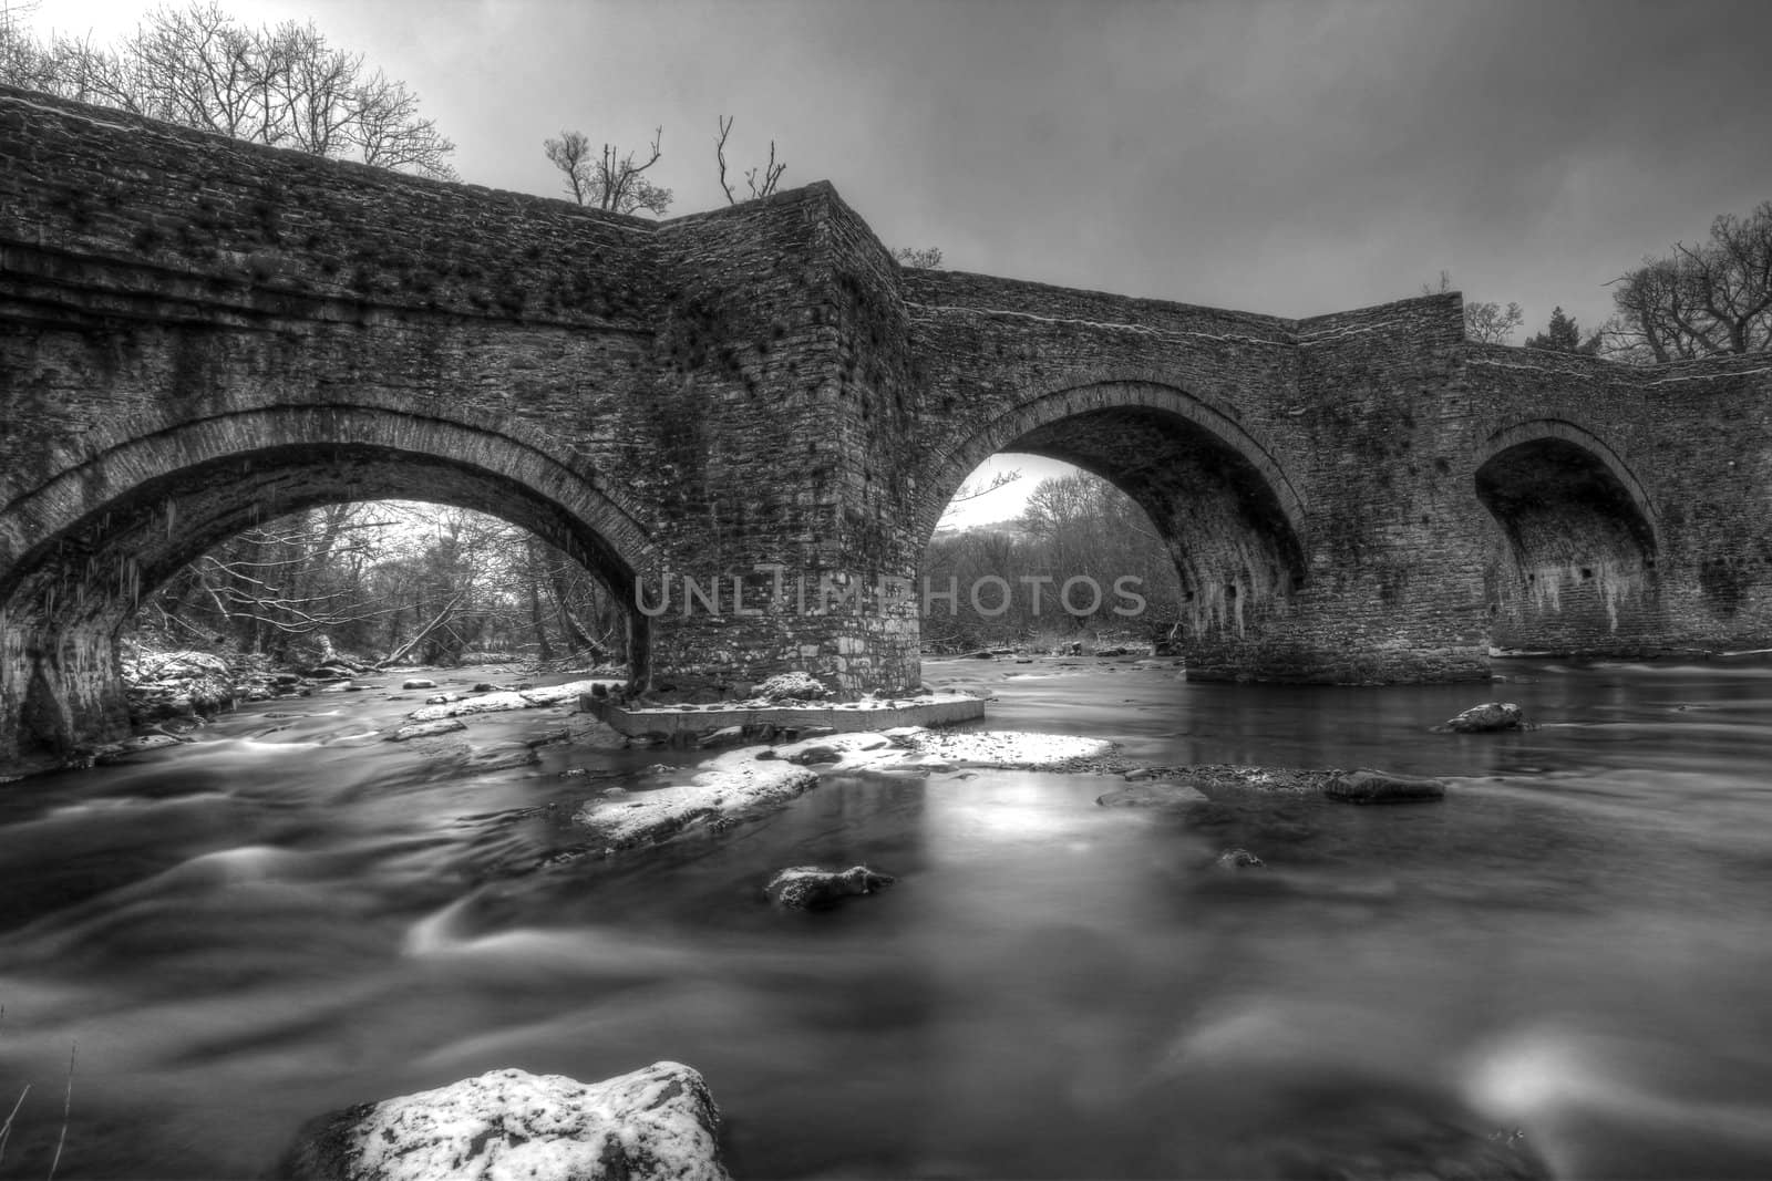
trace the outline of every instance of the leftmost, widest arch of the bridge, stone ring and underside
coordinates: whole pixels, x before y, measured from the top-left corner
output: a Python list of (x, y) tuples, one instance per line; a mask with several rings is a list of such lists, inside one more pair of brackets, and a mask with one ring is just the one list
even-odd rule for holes
[[(501, 517), (629, 606), (652, 554), (643, 522), (594, 478), (482, 427), (365, 405), (257, 407), (167, 427), (62, 466), (0, 510), (0, 722), (48, 749), (117, 733), (115, 636), (149, 591), (259, 521), (356, 499)], [(643, 676), (649, 621), (633, 609), (629, 652)]]

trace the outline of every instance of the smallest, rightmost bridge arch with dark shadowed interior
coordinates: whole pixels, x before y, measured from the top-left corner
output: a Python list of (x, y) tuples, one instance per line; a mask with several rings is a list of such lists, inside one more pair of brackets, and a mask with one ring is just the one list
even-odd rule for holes
[(1474, 459), (1476, 498), (1503, 538), (1485, 568), (1497, 648), (1600, 652), (1655, 625), (1659, 515), (1604, 439), (1535, 418)]

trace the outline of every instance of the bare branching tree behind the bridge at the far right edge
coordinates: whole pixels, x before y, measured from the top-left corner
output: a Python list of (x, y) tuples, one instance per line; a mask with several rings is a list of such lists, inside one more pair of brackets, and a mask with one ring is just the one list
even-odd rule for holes
[(1611, 283), (1607, 351), (1676, 361), (1772, 351), (1772, 200), (1745, 218), (1719, 214), (1710, 241), (1675, 244)]

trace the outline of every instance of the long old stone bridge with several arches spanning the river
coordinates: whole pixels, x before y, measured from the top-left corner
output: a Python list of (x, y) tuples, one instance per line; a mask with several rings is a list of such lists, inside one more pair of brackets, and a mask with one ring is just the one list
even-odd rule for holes
[(1001, 450), (1150, 513), (1191, 676), (1772, 646), (1768, 407), (1768, 358), (1471, 343), (1457, 294), (907, 271), (828, 184), (654, 223), (0, 89), (0, 760), (119, 733), (142, 597), (342, 499), (496, 513), (647, 611), (689, 575), (631, 613), (640, 680), (902, 689), (923, 547)]

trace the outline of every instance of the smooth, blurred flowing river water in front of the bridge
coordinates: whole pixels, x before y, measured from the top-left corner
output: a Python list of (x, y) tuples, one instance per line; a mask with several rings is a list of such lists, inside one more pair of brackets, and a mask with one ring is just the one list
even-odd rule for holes
[[(555, 710), (386, 744), (418, 705), (388, 691), (4, 784), (0, 1119), (25, 1098), (0, 1174), (46, 1176), (64, 1103), (60, 1177), (241, 1177), (349, 1103), (673, 1059), (750, 1177), (1310, 1174), (1403, 1108), (1524, 1135), (1558, 1176), (1772, 1176), (1772, 669), (1504, 671), (925, 666), (996, 694), (989, 728), (1138, 760), (1448, 777), (1400, 807), (828, 777), (719, 838), (583, 857), (576, 802), (695, 756), (503, 765)], [(1543, 726), (1428, 731), (1490, 696)], [(1265, 868), (1219, 869), (1232, 846)], [(762, 899), (810, 862), (898, 884)]]

